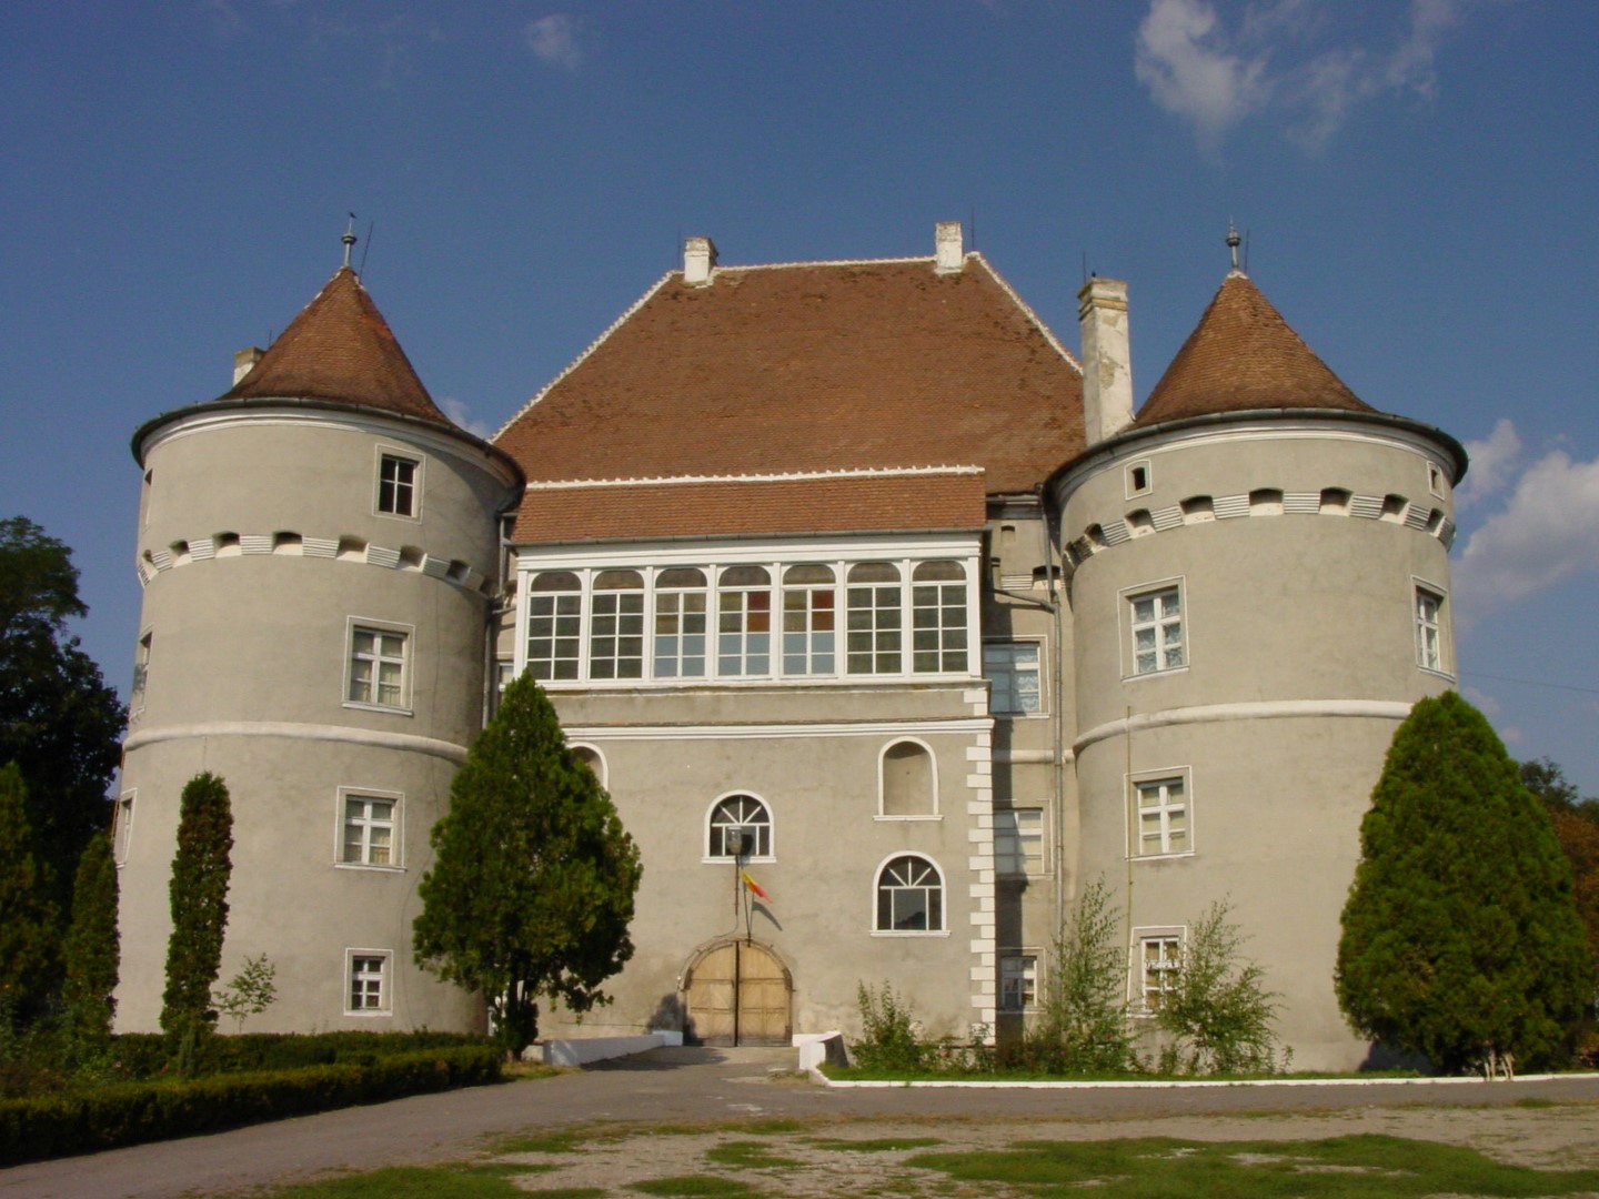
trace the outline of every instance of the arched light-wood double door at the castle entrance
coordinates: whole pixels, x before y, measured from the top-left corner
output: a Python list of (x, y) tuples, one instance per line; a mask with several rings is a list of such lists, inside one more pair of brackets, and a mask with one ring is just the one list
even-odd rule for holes
[(771, 948), (723, 940), (704, 948), (683, 980), (689, 1039), (702, 1046), (787, 1046), (793, 980)]

